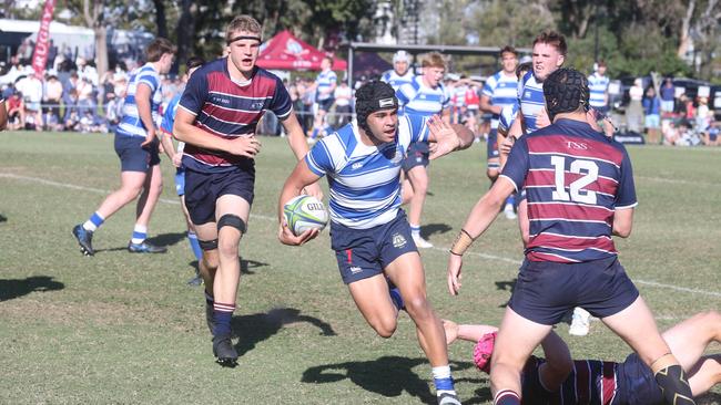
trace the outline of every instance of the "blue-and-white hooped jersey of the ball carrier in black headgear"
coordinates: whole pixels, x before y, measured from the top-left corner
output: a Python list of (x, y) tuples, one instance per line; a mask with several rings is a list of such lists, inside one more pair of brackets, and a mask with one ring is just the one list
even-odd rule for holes
[(368, 146), (357, 122), (321, 139), (305, 156), (311, 172), (328, 176), (331, 220), (367, 229), (396, 218), (400, 207), (400, 167), (412, 143), (427, 142), (427, 118), (398, 117), (394, 142)]

